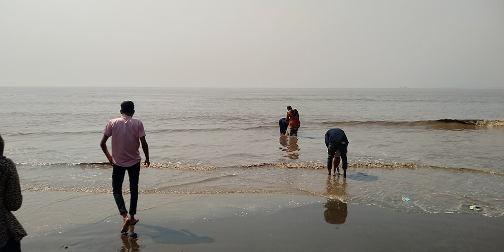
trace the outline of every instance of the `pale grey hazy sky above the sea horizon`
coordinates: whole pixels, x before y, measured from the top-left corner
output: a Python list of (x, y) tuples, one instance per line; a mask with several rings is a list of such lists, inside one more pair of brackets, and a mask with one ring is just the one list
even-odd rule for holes
[(504, 88), (504, 1), (0, 0), (0, 86)]

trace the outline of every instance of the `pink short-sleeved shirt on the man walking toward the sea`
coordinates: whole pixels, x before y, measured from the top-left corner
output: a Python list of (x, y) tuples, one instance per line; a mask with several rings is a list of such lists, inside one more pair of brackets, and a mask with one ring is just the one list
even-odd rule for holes
[(140, 138), (145, 137), (141, 120), (123, 115), (108, 121), (103, 135), (112, 137), (112, 162), (118, 166), (129, 167), (140, 162)]

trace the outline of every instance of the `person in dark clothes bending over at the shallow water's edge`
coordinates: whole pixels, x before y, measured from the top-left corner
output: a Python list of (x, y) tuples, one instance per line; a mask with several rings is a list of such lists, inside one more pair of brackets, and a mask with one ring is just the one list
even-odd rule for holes
[[(326, 132), (324, 139), (327, 147), (327, 170), (329, 172), (329, 175), (331, 175), (334, 153), (339, 150), (341, 161), (343, 162), (343, 177), (346, 177), (346, 169), (348, 168), (348, 161), (346, 156), (348, 152), (348, 139), (345, 135), (345, 132), (337, 128), (331, 129)], [(336, 167), (334, 168), (334, 174), (336, 175)]]

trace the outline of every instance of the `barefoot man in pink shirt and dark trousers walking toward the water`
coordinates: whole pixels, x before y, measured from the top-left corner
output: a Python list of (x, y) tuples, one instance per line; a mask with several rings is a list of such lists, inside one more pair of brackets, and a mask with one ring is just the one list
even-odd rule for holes
[[(119, 213), (124, 219), (121, 229), (121, 233), (124, 233), (128, 232), (130, 225), (135, 225), (139, 221), (134, 216), (137, 214), (138, 179), (140, 176), (140, 161), (142, 160), (139, 151), (140, 143), (142, 143), (142, 150), (145, 155), (144, 166), (149, 167), (150, 162), (149, 146), (145, 141), (144, 124), (142, 121), (132, 118), (135, 113), (135, 104), (132, 101), (122, 102), (120, 113), (122, 114), (121, 117), (111, 119), (105, 126), (100, 147), (113, 167), (112, 192)], [(108, 152), (106, 145), (109, 137), (112, 137), (112, 155)], [(126, 171), (128, 171), (130, 177), (130, 217), (128, 217), (128, 211), (122, 197), (122, 182)]]

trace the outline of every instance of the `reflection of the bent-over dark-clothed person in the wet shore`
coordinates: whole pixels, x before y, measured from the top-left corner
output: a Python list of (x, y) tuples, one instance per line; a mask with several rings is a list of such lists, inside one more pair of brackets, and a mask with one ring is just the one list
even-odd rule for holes
[[(340, 181), (341, 179), (341, 181)], [(346, 178), (328, 176), (326, 182), (327, 203), (324, 219), (331, 224), (345, 223), (348, 215), (346, 201)]]

